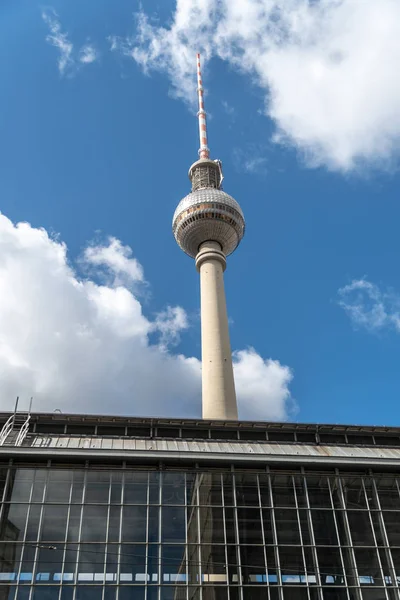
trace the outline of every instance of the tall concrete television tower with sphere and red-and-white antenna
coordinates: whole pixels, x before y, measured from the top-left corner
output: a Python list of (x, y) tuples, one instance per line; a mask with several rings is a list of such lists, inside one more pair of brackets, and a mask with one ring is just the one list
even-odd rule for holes
[(197, 54), (199, 160), (189, 169), (192, 191), (172, 220), (178, 245), (200, 273), (203, 419), (237, 420), (232, 352), (226, 311), (226, 257), (237, 248), (245, 222), (239, 204), (221, 189), (222, 168), (210, 158), (200, 54)]

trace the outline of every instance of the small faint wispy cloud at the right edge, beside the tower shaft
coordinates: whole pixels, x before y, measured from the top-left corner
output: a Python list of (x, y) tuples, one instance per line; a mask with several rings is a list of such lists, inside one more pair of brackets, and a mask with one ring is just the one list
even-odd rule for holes
[(394, 329), (400, 333), (400, 296), (382, 291), (366, 279), (355, 279), (339, 289), (341, 306), (356, 327), (378, 332)]

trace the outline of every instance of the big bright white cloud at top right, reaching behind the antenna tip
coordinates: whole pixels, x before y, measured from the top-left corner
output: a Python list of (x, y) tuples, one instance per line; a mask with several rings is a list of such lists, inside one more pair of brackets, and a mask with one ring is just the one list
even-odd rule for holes
[(195, 100), (194, 55), (218, 56), (265, 93), (274, 139), (312, 166), (392, 167), (400, 147), (398, 0), (177, 0), (170, 23), (140, 12), (112, 49), (166, 71)]

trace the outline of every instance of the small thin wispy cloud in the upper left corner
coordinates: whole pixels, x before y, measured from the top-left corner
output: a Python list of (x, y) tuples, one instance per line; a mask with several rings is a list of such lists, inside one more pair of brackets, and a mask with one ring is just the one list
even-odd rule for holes
[(98, 52), (93, 44), (86, 43), (80, 50), (74, 51), (74, 45), (70, 41), (68, 33), (62, 31), (60, 19), (55, 10), (43, 11), (42, 18), (50, 30), (46, 41), (60, 52), (57, 64), (61, 76), (74, 73), (77, 69), (77, 61), (81, 64), (91, 64), (97, 60)]

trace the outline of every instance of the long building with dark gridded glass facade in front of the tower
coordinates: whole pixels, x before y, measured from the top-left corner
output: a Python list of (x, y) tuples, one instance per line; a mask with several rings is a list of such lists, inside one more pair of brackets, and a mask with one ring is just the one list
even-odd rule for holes
[(189, 460), (161, 439), (105, 459), (74, 427), (0, 447), (0, 600), (400, 598), (400, 439), (387, 459), (365, 446), (362, 466), (354, 446), (310, 461), (310, 441), (289, 461), (282, 441), (275, 458), (248, 443), (235, 460), (231, 442), (217, 461), (217, 442)]

